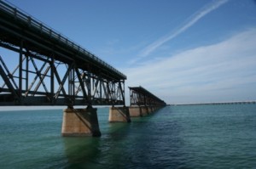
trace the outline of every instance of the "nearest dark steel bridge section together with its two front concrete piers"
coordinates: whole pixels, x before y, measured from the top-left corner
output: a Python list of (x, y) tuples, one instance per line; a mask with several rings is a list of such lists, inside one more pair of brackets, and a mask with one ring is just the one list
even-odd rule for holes
[[(101, 135), (92, 105), (112, 105), (110, 122), (131, 121), (125, 107), (127, 77), (123, 73), (3, 1), (0, 48), (8, 51), (1, 49), (0, 53), (1, 106), (67, 105), (63, 110), (63, 136)], [(75, 105), (86, 109), (74, 109)]]

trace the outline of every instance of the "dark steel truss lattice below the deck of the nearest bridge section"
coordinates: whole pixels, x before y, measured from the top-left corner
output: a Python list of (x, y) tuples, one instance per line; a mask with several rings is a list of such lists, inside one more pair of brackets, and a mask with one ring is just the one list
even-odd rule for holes
[[(20, 46), (3, 41), (0, 46), (17, 55), (0, 54), (0, 105), (125, 104), (125, 80), (92, 74), (90, 65), (82, 70), (74, 59), (61, 62), (54, 52), (49, 56), (37, 54), (22, 39)], [(14, 61), (7, 65), (11, 58)]]

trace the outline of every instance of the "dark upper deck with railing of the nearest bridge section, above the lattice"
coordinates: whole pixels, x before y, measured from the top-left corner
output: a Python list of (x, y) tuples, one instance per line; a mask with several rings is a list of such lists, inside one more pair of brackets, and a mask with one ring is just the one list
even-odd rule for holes
[[(106, 79), (126, 79), (124, 74), (96, 55), (91, 54), (42, 22), (2, 1), (0, 1), (0, 38), (1, 46), (4, 46), (4, 42), (20, 46), (18, 43), (22, 38), (26, 40), (26, 46), (29, 46), (29, 49), (36, 54), (45, 56), (54, 54), (55, 59), (67, 64), (75, 59), (76, 63), (79, 63), (77, 65), (79, 69), (89, 70), (95, 75), (100, 74)], [(9, 45), (6, 45), (5, 48), (9, 48)], [(23, 52), (26, 53), (26, 51)]]

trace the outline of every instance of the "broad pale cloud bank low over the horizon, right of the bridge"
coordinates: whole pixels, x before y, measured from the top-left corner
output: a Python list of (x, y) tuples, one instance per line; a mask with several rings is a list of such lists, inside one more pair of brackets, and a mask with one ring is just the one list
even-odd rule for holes
[(142, 85), (168, 103), (256, 99), (255, 39), (256, 28), (123, 70), (126, 84)]

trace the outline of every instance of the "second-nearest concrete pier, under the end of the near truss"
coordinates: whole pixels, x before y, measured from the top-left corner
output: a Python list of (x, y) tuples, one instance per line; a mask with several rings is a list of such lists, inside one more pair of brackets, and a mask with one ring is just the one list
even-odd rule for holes
[(110, 107), (109, 122), (131, 122), (130, 112), (128, 107)]

